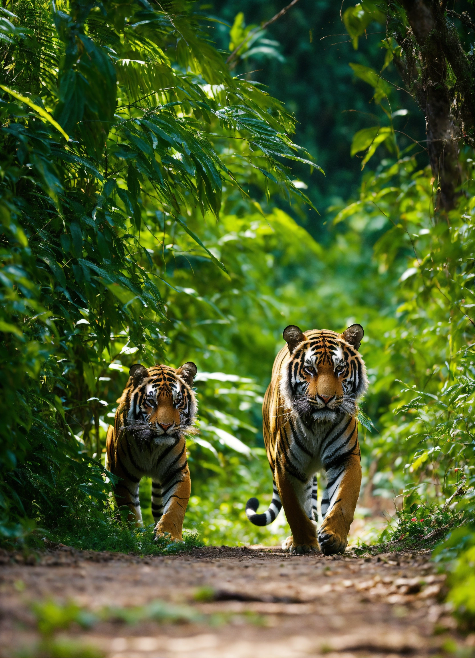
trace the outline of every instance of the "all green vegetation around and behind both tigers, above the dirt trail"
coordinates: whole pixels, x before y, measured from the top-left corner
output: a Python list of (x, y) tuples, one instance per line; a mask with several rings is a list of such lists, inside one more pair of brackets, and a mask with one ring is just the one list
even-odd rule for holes
[[(462, 59), (441, 68), (463, 110), (473, 4), (452, 5)], [(244, 512), (272, 493), (261, 403), (282, 330), (359, 322), (375, 429), (350, 541), (442, 542), (457, 592), (474, 561), (473, 118), (452, 117), (447, 201), (406, 3), (300, 0), (259, 27), (283, 6), (2, 3), (0, 535), (124, 549), (103, 472), (116, 399), (132, 363), (191, 360), (186, 528), (282, 541), (283, 513)]]

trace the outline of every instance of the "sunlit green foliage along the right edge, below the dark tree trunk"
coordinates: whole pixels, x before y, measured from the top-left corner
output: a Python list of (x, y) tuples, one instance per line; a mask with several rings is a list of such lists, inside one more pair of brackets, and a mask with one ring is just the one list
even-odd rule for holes
[[(407, 24), (405, 13), (395, 5), (388, 9), (389, 24), (391, 29), (395, 24), (401, 29)], [(389, 40), (385, 44), (391, 53), (385, 66), (393, 57), (401, 57), (393, 45)], [(460, 53), (464, 59), (461, 49)], [(403, 64), (398, 66), (402, 70)], [(376, 442), (380, 448), (375, 445), (373, 455), (378, 455), (378, 469), (382, 467), (383, 472), (386, 462), (386, 470), (391, 471), (389, 482), (394, 485), (399, 479), (406, 485), (393, 541), (430, 545), (447, 537), (436, 559), (452, 560), (448, 600), (461, 627), (468, 630), (474, 610), (474, 586), (468, 573), (473, 572), (475, 522), (473, 149), (463, 146), (464, 135), (457, 154), (457, 202), (448, 213), (440, 211), (435, 177), (429, 181), (430, 174), (424, 176), (417, 170), (416, 158), (406, 155), (411, 149), (399, 152), (392, 125), (395, 113), (390, 114), (389, 91), (382, 89), (380, 76), (370, 70), (362, 75), (361, 68), (355, 73), (374, 88), (374, 100), (390, 122), (384, 130), (392, 136), (399, 159), (382, 161), (376, 174), (367, 174), (359, 200), (342, 209), (335, 221), (353, 217), (353, 221), (359, 218), (364, 222), (382, 215), (391, 222), (374, 246), (380, 272), (394, 270), (401, 255), (407, 254), (406, 268), (399, 270), (395, 309), (399, 326), (387, 335), (385, 350), (389, 368), (398, 376), (395, 382), (405, 382), (397, 403), (391, 405), (399, 422), (389, 413), (382, 414), (382, 436)], [(413, 78), (411, 84), (416, 89)], [(457, 79), (452, 84), (462, 82)], [(376, 140), (381, 136), (380, 142), (384, 141), (381, 130), (375, 126), (353, 138), (352, 153), (368, 149), (363, 166), (376, 152)], [(388, 389), (393, 392), (393, 387)], [(398, 452), (400, 456), (394, 461)], [(401, 467), (405, 461), (399, 478), (395, 477), (394, 466)], [(394, 493), (401, 484), (394, 487)], [(452, 532), (447, 534), (449, 530)]]

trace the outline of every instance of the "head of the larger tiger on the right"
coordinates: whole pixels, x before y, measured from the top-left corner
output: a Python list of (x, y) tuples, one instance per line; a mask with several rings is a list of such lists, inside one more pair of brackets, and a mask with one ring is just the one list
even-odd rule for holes
[(343, 334), (328, 329), (305, 334), (294, 325), (284, 330), (289, 355), (281, 392), (286, 404), (302, 418), (336, 422), (355, 414), (368, 380), (358, 349), (364, 331), (352, 324)]

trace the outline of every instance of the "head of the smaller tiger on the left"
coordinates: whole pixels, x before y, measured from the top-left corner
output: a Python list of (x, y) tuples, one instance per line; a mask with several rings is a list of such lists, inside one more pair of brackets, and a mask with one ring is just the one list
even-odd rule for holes
[(129, 373), (122, 397), (124, 429), (141, 441), (194, 433), (197, 403), (191, 387), (197, 367), (192, 361), (180, 368), (157, 365), (148, 370), (136, 363)]

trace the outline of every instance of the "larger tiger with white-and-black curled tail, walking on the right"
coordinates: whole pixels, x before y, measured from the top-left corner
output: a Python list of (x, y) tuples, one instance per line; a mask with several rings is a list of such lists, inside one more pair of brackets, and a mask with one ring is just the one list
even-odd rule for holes
[[(246, 504), (258, 526), (271, 523), (282, 505), (291, 536), (282, 548), (290, 553), (343, 553), (361, 487), (358, 400), (368, 388), (358, 350), (361, 324), (342, 334), (328, 329), (284, 329), (283, 347), (274, 361), (263, 401), (264, 444), (273, 494), (267, 511), (259, 501)], [(326, 471), (317, 530), (316, 473)]]

